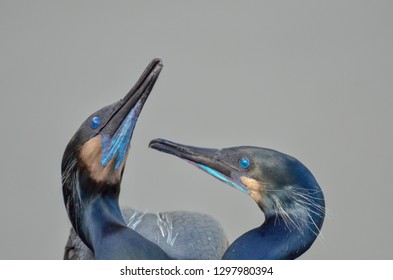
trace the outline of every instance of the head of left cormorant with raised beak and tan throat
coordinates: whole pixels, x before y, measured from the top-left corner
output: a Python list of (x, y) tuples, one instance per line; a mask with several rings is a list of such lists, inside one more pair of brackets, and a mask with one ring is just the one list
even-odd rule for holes
[(154, 59), (123, 99), (91, 114), (68, 143), (62, 183), (74, 228), (80, 200), (104, 192), (118, 195), (136, 121), (162, 67), (161, 60)]

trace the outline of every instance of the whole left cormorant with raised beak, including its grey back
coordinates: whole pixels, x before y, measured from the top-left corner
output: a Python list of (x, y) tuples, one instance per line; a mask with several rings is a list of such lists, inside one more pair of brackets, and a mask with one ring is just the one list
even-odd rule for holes
[(73, 229), (65, 259), (217, 259), (225, 252), (224, 232), (207, 215), (120, 210), (133, 130), (161, 69), (153, 60), (122, 100), (88, 117), (67, 145), (62, 184)]

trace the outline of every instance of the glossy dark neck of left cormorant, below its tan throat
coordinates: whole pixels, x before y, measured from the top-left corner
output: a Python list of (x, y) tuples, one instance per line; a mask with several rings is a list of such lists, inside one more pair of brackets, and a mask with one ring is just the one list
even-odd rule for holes
[[(96, 259), (168, 259), (165, 252), (127, 227), (121, 215), (120, 184), (99, 185), (74, 170), (63, 194), (72, 225)], [(83, 186), (83, 187), (82, 187)]]

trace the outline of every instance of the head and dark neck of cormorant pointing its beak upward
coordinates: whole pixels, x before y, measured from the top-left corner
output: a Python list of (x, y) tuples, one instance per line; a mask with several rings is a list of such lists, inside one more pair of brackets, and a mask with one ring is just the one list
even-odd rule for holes
[(169, 258), (127, 227), (118, 204), (135, 122), (161, 69), (161, 60), (153, 60), (122, 100), (87, 118), (64, 152), (64, 203), (76, 233), (97, 259)]

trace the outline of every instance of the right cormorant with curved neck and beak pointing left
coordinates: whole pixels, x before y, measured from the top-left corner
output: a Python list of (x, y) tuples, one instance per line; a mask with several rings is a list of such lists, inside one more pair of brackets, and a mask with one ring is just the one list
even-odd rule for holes
[(187, 160), (249, 194), (265, 214), (263, 224), (237, 238), (223, 259), (295, 259), (318, 236), (325, 200), (311, 172), (295, 158), (257, 147), (222, 150), (156, 139), (150, 147)]

